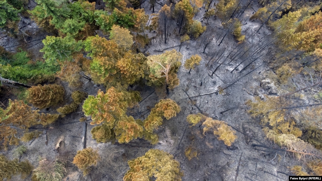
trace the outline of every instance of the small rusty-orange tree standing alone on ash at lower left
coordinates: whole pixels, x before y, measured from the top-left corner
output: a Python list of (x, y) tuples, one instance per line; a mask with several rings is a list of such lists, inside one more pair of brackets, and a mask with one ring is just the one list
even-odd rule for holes
[(83, 171), (84, 176), (86, 176), (90, 172), (90, 167), (97, 165), (99, 159), (100, 157), (97, 150), (93, 150), (93, 148), (84, 148), (81, 151), (77, 151), (73, 164)]

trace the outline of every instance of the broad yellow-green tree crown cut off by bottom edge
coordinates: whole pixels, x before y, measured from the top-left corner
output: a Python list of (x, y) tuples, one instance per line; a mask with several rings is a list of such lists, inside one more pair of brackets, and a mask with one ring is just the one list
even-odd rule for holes
[(128, 161), (130, 169), (123, 181), (151, 180), (181, 181), (183, 173), (180, 164), (169, 153), (158, 149), (150, 149), (144, 156)]

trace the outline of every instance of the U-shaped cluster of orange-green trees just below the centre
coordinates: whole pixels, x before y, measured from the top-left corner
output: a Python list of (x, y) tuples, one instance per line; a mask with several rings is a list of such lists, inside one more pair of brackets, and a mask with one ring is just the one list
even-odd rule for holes
[(91, 116), (92, 125), (99, 125), (91, 130), (93, 138), (97, 142), (117, 139), (119, 143), (128, 143), (144, 137), (152, 144), (157, 143), (158, 137), (153, 130), (162, 124), (162, 116), (170, 119), (176, 116), (180, 107), (173, 100), (160, 100), (146, 120), (135, 120), (126, 115), (126, 110), (139, 99), (137, 92), (119, 91), (114, 87), (106, 93), (99, 90), (95, 97), (90, 95), (83, 104), (83, 111), (86, 116)]

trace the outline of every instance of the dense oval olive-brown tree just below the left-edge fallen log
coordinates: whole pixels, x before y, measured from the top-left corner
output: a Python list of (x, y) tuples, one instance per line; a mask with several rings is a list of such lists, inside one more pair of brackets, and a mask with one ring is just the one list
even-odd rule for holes
[(65, 90), (58, 84), (32, 86), (28, 89), (28, 101), (33, 106), (44, 109), (63, 101)]

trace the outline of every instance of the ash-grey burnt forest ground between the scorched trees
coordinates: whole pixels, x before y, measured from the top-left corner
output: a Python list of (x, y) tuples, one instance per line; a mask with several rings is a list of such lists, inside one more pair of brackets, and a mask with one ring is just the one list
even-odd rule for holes
[[(160, 3), (163, 4), (163, 2)], [(145, 8), (147, 14), (151, 14), (151, 10), (147, 8), (149, 7), (148, 1), (146, 1), (142, 7)], [(249, 7), (252, 7), (253, 9), (259, 8), (257, 3), (252, 3)], [(157, 4), (155, 7), (156, 12), (160, 8), (161, 6)], [(239, 73), (243, 66), (254, 59), (252, 57), (231, 73), (242, 60), (254, 53), (256, 48), (271, 41), (271, 37), (268, 36), (259, 43), (263, 36), (272, 33), (265, 26), (256, 35), (251, 35), (253, 32), (257, 31), (261, 24), (259, 21), (249, 21), (250, 16), (254, 12), (252, 8), (248, 8), (240, 17), (243, 24), (242, 33), (246, 35), (246, 41), (241, 45), (237, 44), (231, 34), (227, 34), (223, 43), (218, 46), (219, 41), (226, 30), (221, 26), (221, 21), (219, 19), (211, 17), (208, 26), (212, 26), (216, 32), (213, 40), (206, 48), (205, 53), (203, 53), (204, 45), (201, 44), (202, 42), (200, 41), (191, 40), (188, 46), (182, 46), (182, 63), (193, 54), (199, 54), (203, 59), (200, 65), (192, 70), (190, 74), (188, 73), (189, 70), (186, 70), (183, 66), (180, 67), (178, 71), (180, 85), (174, 90), (171, 90), (167, 98), (175, 100), (181, 107), (181, 112), (177, 114), (175, 118), (165, 120), (161, 128), (157, 130), (159, 142), (156, 145), (151, 145), (143, 139), (137, 139), (128, 144), (97, 143), (96, 140), (92, 139), (90, 134), (90, 130), (93, 126), (89, 124), (90, 120), (87, 120), (86, 147), (92, 147), (99, 150), (101, 160), (98, 162), (97, 166), (93, 167), (90, 174), (86, 177), (82, 176), (81, 171), (79, 171), (77, 167), (69, 163), (67, 165), (67, 174), (64, 180), (120, 181), (128, 170), (128, 160), (144, 155), (145, 152), (151, 148), (164, 150), (172, 154), (174, 158), (180, 162), (181, 170), (184, 172), (182, 178), (184, 181), (288, 180), (288, 175), (291, 174), (287, 167), (297, 164), (293, 157), (288, 154), (281, 157), (276, 153), (259, 151), (251, 146), (252, 143), (272, 145), (270, 141), (265, 139), (261, 130), (262, 128), (258, 124), (258, 120), (254, 120), (249, 116), (247, 113), (248, 108), (244, 104), (246, 100), (254, 99), (254, 94), (257, 90), (268, 93), (261, 90), (260, 83), (267, 77), (265, 72), (269, 68), (266, 65), (260, 66), (264, 60), (259, 58), (254, 61), (248, 69)], [(200, 13), (198, 13), (194, 19), (201, 20), (203, 17), (202, 12), (204, 12), (204, 8), (201, 8)], [(33, 55), (41, 57), (42, 54), (39, 53), (39, 49), (43, 46), (41, 40), (47, 34), (37, 28), (36, 24), (28, 18), (23, 19), (20, 27), (24, 25), (26, 25), (24, 27), (26, 29), (22, 28), (22, 31), (28, 29), (32, 32), (37, 32), (30, 34), (28, 40), (26, 39), (24, 44), (27, 50), (33, 52)], [(151, 37), (153, 34), (149, 33), (148, 35)], [(17, 39), (4, 36), (4, 33), (0, 34), (0, 45), (4, 46), (8, 51), (14, 52), (18, 47)], [(216, 41), (217, 39), (219, 39), (219, 41)], [(179, 43), (179, 37), (174, 34), (168, 37), (168, 43), (166, 44), (163, 40), (159, 41), (159, 38), (157, 37), (142, 51), (144, 51), (145, 54), (158, 54), (161, 52), (155, 52), (154, 50), (176, 46), (179, 45)], [(238, 48), (235, 49), (236, 46), (238, 46)], [(247, 48), (251, 47), (251, 49), (243, 56), (241, 56), (241, 53), (236, 59), (232, 60), (231, 55), (242, 46), (244, 46), (244, 52)], [(274, 45), (271, 44), (270, 47), (274, 47)], [(179, 50), (179, 47), (175, 47), (175, 49)], [(228, 56), (232, 50), (234, 50), (234, 52)], [(268, 50), (269, 47), (263, 49), (260, 52), (261, 55), (267, 53)], [(221, 51), (224, 51), (222, 56), (219, 57), (218, 55), (211, 60), (214, 53)], [(231, 60), (232, 62), (228, 63)], [(213, 76), (211, 76), (213, 70), (216, 69), (222, 61), (225, 61), (225, 63), (223, 63)], [(252, 71), (258, 66), (260, 67), (255, 71)], [(252, 72), (249, 73), (250, 71)], [(218, 93), (220, 88), (229, 85), (240, 77), (243, 78), (225, 89), (223, 93)], [(105, 91), (105, 88), (102, 85), (96, 85), (86, 79), (83, 79), (82, 81), (84, 82), (84, 85), (81, 91), (86, 91), (89, 95), (96, 95), (99, 89)], [(72, 90), (68, 87), (67, 83), (62, 82), (61, 84), (66, 90), (66, 99), (62, 103), (62, 105), (64, 105), (71, 101), (70, 95)], [(138, 103), (137, 107), (130, 109), (128, 115), (132, 115), (136, 119), (145, 119), (149, 114), (150, 109), (154, 107), (160, 97), (158, 97), (156, 94), (157, 91), (154, 90), (154, 88), (144, 86), (139, 87), (138, 89), (141, 92), (142, 101)], [(191, 98), (191, 100), (188, 98), (189, 96), (198, 96), (205, 93), (211, 94), (194, 97)], [(51, 108), (49, 112), (53, 112), (55, 109), (57, 108)], [(191, 127), (186, 122), (187, 115), (196, 113), (203, 113), (213, 119), (225, 121), (239, 130), (237, 131), (238, 139), (231, 147), (227, 147), (213, 135), (203, 135), (200, 124)], [(76, 152), (82, 149), (83, 123), (79, 122), (81, 117), (84, 117), (84, 114), (80, 106), (76, 112), (59, 119), (55, 124), (50, 125), (48, 129), (44, 130), (39, 138), (28, 143), (22, 143), (28, 148), (28, 151), (21, 157), (21, 160), (29, 160), (34, 167), (37, 167), (37, 160), (39, 157), (54, 159), (59, 154), (65, 154), (72, 160), (72, 157), (76, 155)], [(248, 136), (245, 136), (243, 133)], [(48, 141), (46, 138), (48, 138)], [(260, 143), (253, 138), (260, 141)], [(191, 160), (188, 160), (185, 156), (185, 149), (189, 147), (197, 151), (197, 157), (194, 157)], [(8, 152), (1, 153), (13, 158), (12, 150), (14, 150), (14, 148), (16, 147), (11, 146), (9, 147)], [(29, 176), (25, 180), (30, 179)], [(19, 181), (21, 179), (19, 176), (15, 176), (12, 180)]]

